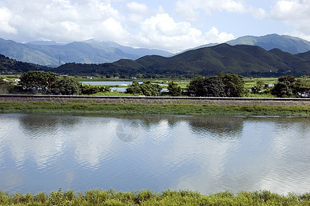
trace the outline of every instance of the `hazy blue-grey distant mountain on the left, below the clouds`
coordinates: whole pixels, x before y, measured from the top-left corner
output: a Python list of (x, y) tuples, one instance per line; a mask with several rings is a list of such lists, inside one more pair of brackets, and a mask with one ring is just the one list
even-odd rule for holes
[(89, 40), (61, 44), (53, 41), (16, 43), (0, 38), (0, 54), (23, 62), (58, 67), (66, 62), (99, 64), (115, 62), (122, 58), (135, 60), (145, 55), (159, 54), (170, 56), (169, 52), (156, 49), (134, 49), (117, 43), (100, 43)]

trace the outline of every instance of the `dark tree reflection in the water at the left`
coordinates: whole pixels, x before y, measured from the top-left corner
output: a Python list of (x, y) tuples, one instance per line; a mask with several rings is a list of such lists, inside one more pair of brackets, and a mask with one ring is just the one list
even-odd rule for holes
[[(22, 115), (19, 122), (27, 133), (53, 133), (59, 127), (73, 126), (78, 124), (78, 118), (56, 115)], [(34, 135), (32, 135), (34, 136)]]

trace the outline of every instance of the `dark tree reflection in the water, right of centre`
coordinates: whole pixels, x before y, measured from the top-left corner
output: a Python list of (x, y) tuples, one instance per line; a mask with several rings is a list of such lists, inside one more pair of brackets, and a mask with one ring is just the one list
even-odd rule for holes
[(221, 139), (239, 139), (243, 130), (243, 121), (244, 119), (241, 117), (213, 116), (195, 117), (188, 122), (192, 131), (199, 132), (199, 138), (214, 135)]

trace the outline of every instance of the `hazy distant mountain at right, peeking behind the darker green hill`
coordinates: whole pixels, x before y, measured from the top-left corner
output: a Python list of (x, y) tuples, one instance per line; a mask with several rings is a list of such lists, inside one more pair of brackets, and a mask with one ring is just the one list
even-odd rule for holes
[[(289, 52), (291, 54), (299, 54), (303, 52), (310, 51), (310, 42), (302, 38), (288, 36), (288, 35), (278, 35), (278, 34), (268, 34), (266, 36), (241, 36), (232, 41), (225, 42), (228, 45), (252, 45), (262, 47), (266, 50), (271, 49), (281, 49), (283, 52)], [(212, 47), (214, 45), (219, 45), (218, 43), (212, 43), (208, 45), (201, 45), (193, 49), (199, 49), (203, 47)], [(184, 52), (190, 49), (185, 50)]]

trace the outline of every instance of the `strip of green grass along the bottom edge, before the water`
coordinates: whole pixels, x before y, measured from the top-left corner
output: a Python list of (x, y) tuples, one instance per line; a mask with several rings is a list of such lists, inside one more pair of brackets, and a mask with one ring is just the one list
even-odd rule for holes
[(139, 192), (115, 192), (115, 190), (88, 190), (84, 194), (58, 190), (49, 195), (8, 194), (0, 190), (0, 205), (310, 205), (310, 193), (283, 196), (269, 191), (219, 192), (202, 195), (188, 190), (165, 190), (155, 193), (150, 190)]

